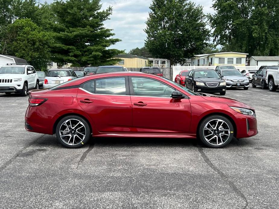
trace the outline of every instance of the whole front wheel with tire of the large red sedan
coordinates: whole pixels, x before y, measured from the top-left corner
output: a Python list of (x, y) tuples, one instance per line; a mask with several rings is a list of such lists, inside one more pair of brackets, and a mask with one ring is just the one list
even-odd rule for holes
[(204, 145), (222, 148), (233, 139), (233, 125), (224, 116), (212, 115), (201, 122), (198, 135)]

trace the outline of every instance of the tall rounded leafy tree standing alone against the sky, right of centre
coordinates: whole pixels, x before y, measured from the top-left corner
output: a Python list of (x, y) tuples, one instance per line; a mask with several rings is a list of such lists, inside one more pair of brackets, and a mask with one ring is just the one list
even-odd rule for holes
[(200, 52), (209, 40), (202, 7), (185, 0), (153, 0), (146, 22), (145, 46), (170, 64), (184, 62)]

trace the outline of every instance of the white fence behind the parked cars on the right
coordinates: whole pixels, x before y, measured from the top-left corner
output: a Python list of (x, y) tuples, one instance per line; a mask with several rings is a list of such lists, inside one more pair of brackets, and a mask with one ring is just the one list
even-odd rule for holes
[[(173, 66), (173, 81), (177, 74), (182, 70), (193, 70), (193, 69), (214, 69), (217, 66)], [(236, 69), (242, 70), (258, 70), (261, 66), (235, 66)]]

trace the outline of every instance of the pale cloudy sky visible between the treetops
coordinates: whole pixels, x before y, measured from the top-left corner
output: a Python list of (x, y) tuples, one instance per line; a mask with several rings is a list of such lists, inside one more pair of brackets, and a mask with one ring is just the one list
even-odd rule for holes
[[(51, 3), (53, 0), (47, 0), (47, 2)], [(109, 5), (113, 7), (113, 14), (110, 20), (104, 23), (105, 27), (113, 29), (115, 37), (122, 40), (113, 45), (113, 48), (128, 52), (132, 48), (144, 46), (146, 34), (143, 30), (151, 2), (152, 0), (101, 0), (103, 9)], [(192, 2), (202, 5), (205, 14), (212, 13), (210, 8), (212, 1), (192, 0)]]

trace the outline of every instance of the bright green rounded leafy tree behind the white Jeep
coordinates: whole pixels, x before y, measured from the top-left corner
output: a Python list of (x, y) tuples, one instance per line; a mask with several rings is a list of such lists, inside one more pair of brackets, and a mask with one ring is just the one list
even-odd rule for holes
[(36, 70), (46, 70), (51, 59), (51, 33), (43, 31), (30, 19), (19, 19), (10, 24), (5, 33), (7, 55), (25, 59)]

